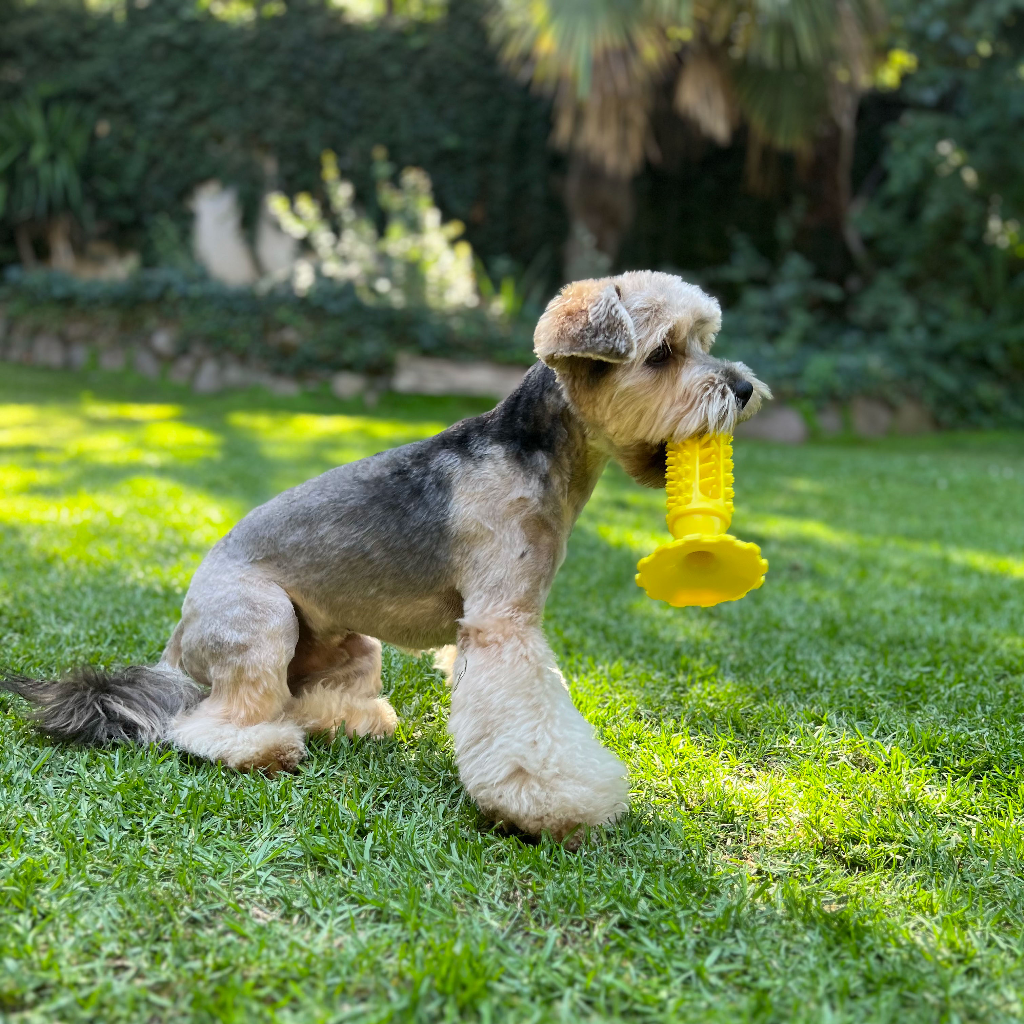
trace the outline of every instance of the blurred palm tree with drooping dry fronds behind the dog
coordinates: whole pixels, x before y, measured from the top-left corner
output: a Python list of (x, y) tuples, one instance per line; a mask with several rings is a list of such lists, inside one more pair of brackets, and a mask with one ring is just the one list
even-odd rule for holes
[(671, 85), (676, 113), (720, 145), (748, 129), (748, 179), (769, 148), (807, 153), (838, 128), (837, 206), (847, 246), (857, 108), (871, 84), (882, 0), (497, 0), (504, 60), (554, 97), (553, 140), (569, 153), (566, 275), (610, 265), (632, 217), (630, 179), (656, 159), (650, 116)]

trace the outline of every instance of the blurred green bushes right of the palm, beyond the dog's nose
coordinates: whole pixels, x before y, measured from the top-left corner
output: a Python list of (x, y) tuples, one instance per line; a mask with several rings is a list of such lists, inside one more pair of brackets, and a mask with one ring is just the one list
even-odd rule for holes
[(894, 43), (918, 57), (857, 224), (870, 256), (845, 288), (793, 248), (742, 238), (707, 273), (735, 302), (723, 347), (782, 394), (924, 398), (946, 424), (1024, 423), (1024, 3), (899, 0)]

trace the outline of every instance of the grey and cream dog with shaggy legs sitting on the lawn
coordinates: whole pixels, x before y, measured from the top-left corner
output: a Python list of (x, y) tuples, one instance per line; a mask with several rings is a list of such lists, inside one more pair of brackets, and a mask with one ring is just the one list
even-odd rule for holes
[(67, 740), (273, 772), (307, 733), (393, 733), (382, 641), (454, 643), (449, 729), (480, 810), (558, 840), (613, 822), (626, 768), (573, 706), (544, 605), (609, 460), (664, 487), (668, 441), (730, 431), (770, 397), (710, 354), (720, 326), (718, 302), (672, 274), (567, 285), (538, 323), (539, 361), (494, 410), (245, 516), (197, 569), (158, 665), (3, 685)]

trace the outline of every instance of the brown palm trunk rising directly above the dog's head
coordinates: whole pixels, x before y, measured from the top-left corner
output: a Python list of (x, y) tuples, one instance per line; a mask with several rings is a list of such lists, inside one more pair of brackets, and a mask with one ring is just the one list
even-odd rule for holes
[(609, 174), (573, 152), (565, 179), (565, 207), (569, 214), (565, 280), (604, 276), (633, 223), (631, 180)]

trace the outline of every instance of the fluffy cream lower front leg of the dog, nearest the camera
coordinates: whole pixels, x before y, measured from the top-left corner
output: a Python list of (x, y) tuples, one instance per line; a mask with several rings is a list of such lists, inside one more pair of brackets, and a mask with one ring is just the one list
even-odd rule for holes
[(449, 728), (463, 784), (498, 820), (560, 840), (628, 806), (626, 767), (573, 707), (539, 612), (467, 607)]

